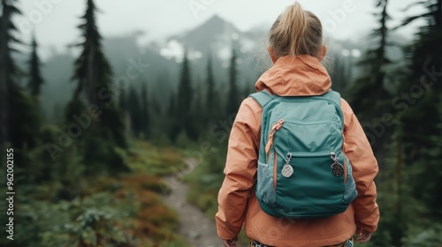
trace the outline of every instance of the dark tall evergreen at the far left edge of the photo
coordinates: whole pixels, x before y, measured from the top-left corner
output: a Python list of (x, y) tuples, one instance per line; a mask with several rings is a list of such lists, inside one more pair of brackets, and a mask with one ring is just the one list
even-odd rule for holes
[[(0, 146), (10, 142), (13, 147), (30, 148), (36, 145), (38, 116), (33, 102), (24, 94), (17, 79), (21, 73), (15, 64), (13, 45), (18, 43), (12, 19), (20, 14), (15, 0), (2, 0), (0, 17)], [(13, 110), (12, 110), (13, 109)], [(18, 160), (19, 155), (14, 155)]]

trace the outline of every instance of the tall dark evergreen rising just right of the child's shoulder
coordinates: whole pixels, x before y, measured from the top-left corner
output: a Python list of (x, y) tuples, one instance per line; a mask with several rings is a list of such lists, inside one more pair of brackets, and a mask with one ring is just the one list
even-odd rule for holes
[[(389, 28), (387, 23), (390, 16), (387, 12), (388, 0), (377, 0), (377, 8), (380, 12), (375, 14), (379, 26), (370, 34), (377, 39), (374, 48), (368, 49), (365, 57), (359, 63), (364, 71), (361, 78), (354, 82), (351, 88), (351, 103), (354, 113), (358, 116), (365, 131), (370, 132), (370, 141), (377, 158), (384, 157), (387, 152), (388, 140), (392, 136), (393, 129), (385, 128), (382, 117), (392, 113), (391, 94), (386, 87), (386, 67), (391, 64), (386, 55)], [(375, 135), (371, 133), (379, 125), (385, 129), (384, 133)], [(383, 162), (381, 162), (383, 163)]]

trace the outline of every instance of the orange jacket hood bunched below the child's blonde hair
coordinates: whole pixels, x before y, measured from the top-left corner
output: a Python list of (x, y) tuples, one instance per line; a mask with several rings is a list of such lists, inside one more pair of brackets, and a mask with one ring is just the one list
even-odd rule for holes
[(269, 89), (279, 96), (321, 95), (331, 88), (331, 79), (315, 57), (282, 56), (263, 73), (256, 90)]

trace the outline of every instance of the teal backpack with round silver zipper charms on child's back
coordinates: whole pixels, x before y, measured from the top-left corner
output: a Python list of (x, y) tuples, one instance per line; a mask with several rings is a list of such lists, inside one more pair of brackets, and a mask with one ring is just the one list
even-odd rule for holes
[(356, 198), (352, 166), (342, 152), (340, 95), (250, 94), (263, 108), (256, 198), (265, 213), (318, 218), (346, 211)]

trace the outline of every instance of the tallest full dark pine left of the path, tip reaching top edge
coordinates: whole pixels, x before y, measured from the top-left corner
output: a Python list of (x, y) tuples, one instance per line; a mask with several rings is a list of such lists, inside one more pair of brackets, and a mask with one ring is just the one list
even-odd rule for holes
[(88, 109), (99, 112), (90, 117), (90, 124), (81, 131), (75, 144), (80, 146), (82, 159), (91, 164), (86, 170), (89, 174), (128, 169), (120, 150), (127, 148), (125, 123), (114, 102), (116, 95), (109, 90), (112, 71), (103, 54), (95, 11), (94, 1), (86, 0), (83, 22), (78, 26), (83, 41), (78, 45), (81, 51), (72, 76), (77, 87), (65, 110), (65, 124), (72, 123), (74, 116), (88, 116)]

